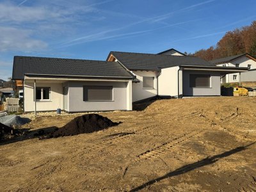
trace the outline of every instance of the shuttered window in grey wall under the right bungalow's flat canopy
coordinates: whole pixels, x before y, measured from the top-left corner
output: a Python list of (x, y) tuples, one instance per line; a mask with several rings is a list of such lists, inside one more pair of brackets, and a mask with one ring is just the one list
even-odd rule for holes
[(203, 74), (190, 74), (189, 75), (189, 87), (201, 87), (210, 88), (211, 87), (211, 76)]

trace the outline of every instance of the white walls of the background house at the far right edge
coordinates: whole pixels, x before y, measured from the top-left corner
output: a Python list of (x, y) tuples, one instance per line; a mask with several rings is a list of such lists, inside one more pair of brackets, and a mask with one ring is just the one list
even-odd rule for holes
[[(236, 60), (233, 60), (229, 63), (223, 63), (217, 66), (223, 66), (225, 65), (225, 67), (236, 67), (236, 64), (239, 64), (239, 67), (248, 67), (248, 65), (251, 65), (250, 69), (254, 69), (256, 68), (256, 61), (251, 60), (250, 58), (246, 57), (246, 56), (242, 56), (240, 58), (237, 58)], [(246, 77), (246, 74), (248, 72), (243, 72), (243, 75), (241, 75), (241, 81), (256, 81), (256, 76), (250, 76), (250, 78)], [(234, 76), (237, 76), (237, 79), (234, 80)], [(245, 78), (242, 78), (245, 77)], [(225, 82), (221, 82), (221, 83), (238, 83), (239, 82), (239, 73), (235, 73), (235, 74), (227, 74), (225, 77)]]

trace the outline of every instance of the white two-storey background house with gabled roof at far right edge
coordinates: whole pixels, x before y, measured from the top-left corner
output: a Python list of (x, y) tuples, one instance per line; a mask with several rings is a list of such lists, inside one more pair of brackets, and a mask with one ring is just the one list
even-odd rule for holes
[(238, 54), (212, 60), (211, 63), (222, 67), (247, 67), (248, 72), (227, 74), (221, 78), (221, 83), (239, 83), (245, 81), (256, 81), (256, 58), (248, 53)]

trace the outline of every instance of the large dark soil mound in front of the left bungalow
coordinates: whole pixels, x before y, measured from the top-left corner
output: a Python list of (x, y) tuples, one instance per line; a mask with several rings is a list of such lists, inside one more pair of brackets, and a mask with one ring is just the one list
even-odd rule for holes
[(64, 125), (57, 131), (53, 132), (52, 137), (57, 138), (60, 136), (73, 136), (76, 134), (90, 133), (107, 129), (108, 127), (118, 124), (119, 123), (112, 122), (108, 118), (97, 114), (77, 116), (67, 125)]

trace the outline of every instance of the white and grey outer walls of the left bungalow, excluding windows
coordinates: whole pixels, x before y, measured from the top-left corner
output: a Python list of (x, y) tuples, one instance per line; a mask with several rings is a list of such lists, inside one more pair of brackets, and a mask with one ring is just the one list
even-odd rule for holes
[[(40, 80), (42, 81), (42, 80)], [(31, 81), (30, 81), (31, 82)], [(54, 80), (52, 81), (54, 82)], [(83, 100), (83, 86), (113, 86), (113, 101), (90, 102)], [(65, 83), (36, 83), (36, 87), (50, 87), (49, 100), (36, 100), (36, 111), (64, 109), (64, 87), (68, 88), (67, 111), (132, 110), (132, 81), (66, 81)], [(24, 112), (35, 111), (34, 83), (24, 83)]]

